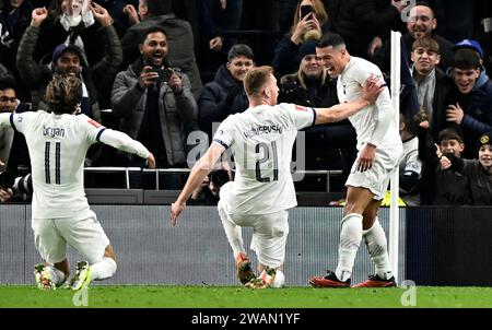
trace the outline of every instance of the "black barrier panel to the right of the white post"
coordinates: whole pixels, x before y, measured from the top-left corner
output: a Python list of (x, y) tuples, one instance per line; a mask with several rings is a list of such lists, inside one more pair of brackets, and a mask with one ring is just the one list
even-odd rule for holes
[(492, 208), (407, 211), (407, 279), (418, 285), (492, 286)]

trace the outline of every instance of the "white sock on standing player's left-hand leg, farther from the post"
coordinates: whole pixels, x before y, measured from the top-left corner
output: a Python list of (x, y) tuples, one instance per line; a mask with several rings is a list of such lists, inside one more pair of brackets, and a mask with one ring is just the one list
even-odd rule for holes
[(352, 274), (353, 263), (362, 239), (362, 214), (350, 213), (342, 219), (338, 266), (335, 274), (344, 282)]

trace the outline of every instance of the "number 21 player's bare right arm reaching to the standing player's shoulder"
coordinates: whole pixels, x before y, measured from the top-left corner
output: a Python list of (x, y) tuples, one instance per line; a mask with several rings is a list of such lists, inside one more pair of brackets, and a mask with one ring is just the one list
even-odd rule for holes
[(315, 108), (315, 123), (336, 122), (348, 118), (349, 116), (374, 103), (384, 89), (384, 81), (376, 75), (371, 75), (365, 81), (365, 86), (362, 89), (361, 96), (355, 101), (337, 104), (330, 108)]

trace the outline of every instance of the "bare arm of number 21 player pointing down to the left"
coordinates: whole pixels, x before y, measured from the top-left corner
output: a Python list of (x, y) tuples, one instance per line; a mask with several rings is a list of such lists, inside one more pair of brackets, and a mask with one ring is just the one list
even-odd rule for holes
[(186, 181), (185, 188), (183, 188), (178, 199), (171, 204), (171, 224), (173, 226), (176, 225), (179, 214), (183, 210), (185, 210), (188, 198), (198, 188), (198, 186), (200, 186), (203, 178), (209, 175), (213, 168), (213, 165), (224, 151), (225, 146), (213, 142), (204, 155), (195, 164), (191, 173), (189, 174), (188, 180)]

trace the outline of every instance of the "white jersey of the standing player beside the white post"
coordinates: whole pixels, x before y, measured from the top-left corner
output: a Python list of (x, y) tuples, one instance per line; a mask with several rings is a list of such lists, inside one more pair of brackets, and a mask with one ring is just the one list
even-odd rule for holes
[[(379, 68), (362, 58), (351, 57), (343, 72), (337, 81), (337, 94), (340, 103), (356, 99), (361, 94), (361, 86), (365, 84), (371, 74), (376, 74), (383, 79)], [(385, 89), (376, 102), (362, 110), (349, 117), (350, 122), (355, 128), (358, 134), (358, 150), (362, 150), (364, 144), (372, 141), (373, 132), (376, 126), (375, 111), (394, 111), (388, 89)], [(401, 144), (399, 132), (391, 122), (386, 131), (384, 139), (377, 148), (390, 144)]]

